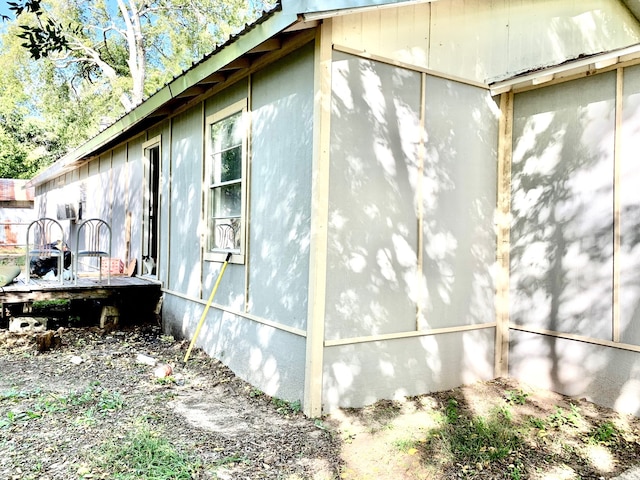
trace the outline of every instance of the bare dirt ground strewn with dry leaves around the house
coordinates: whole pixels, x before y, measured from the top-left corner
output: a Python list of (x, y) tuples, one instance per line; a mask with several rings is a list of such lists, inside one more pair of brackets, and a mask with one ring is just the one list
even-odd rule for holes
[[(141, 422), (198, 459), (197, 479), (608, 479), (640, 463), (637, 418), (511, 380), (307, 419), (198, 350), (184, 365), (187, 343), (156, 325), (61, 338), (38, 353), (33, 335), (0, 330), (0, 478), (115, 478), (96, 458)], [(452, 406), (460, 419), (508, 411), (529, 425), (527, 448), (491, 463), (448, 456), (437, 432)], [(578, 442), (603, 425), (606, 441)]]

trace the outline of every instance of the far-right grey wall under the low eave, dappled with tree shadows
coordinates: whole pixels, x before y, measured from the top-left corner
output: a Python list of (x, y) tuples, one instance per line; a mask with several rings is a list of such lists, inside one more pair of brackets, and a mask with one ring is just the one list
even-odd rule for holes
[(509, 353), (521, 380), (635, 415), (638, 98), (638, 66), (516, 93)]

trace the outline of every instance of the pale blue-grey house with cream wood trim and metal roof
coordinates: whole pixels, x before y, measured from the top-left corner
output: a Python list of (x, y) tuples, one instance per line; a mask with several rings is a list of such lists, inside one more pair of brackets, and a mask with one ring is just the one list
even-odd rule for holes
[(505, 375), (638, 415), (639, 14), (281, 0), (36, 208), (153, 257), (180, 337), (231, 253), (198, 345), (308, 415)]

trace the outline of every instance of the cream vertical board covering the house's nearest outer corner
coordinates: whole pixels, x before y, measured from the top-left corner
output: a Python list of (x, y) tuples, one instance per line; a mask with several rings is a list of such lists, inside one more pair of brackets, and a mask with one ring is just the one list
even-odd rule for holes
[(307, 348), (304, 375), (304, 413), (322, 414), (322, 371), (327, 287), (327, 227), (329, 222), (329, 146), (331, 121), (331, 21), (318, 28), (315, 46), (315, 105), (311, 173), (311, 246)]

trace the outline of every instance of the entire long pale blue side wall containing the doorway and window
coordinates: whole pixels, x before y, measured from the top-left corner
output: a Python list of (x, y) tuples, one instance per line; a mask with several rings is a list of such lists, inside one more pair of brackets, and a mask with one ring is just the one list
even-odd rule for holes
[[(198, 346), (264, 392), (290, 401), (302, 400), (304, 390), (313, 55), (313, 45), (307, 45), (251, 80), (236, 82), (73, 174), (39, 187), (36, 200), (38, 215), (54, 218), (60, 201), (82, 201), (83, 218), (111, 221), (113, 255), (124, 260), (128, 252), (129, 259), (140, 261), (142, 145), (160, 135), (157, 270), (165, 288), (163, 321), (167, 331), (191, 338), (221, 268), (218, 262), (203, 261), (204, 122), (207, 115), (250, 97), (248, 260), (228, 266)], [(291, 72), (288, 80), (283, 81), (282, 71)], [(63, 225), (73, 247), (77, 226)]]

